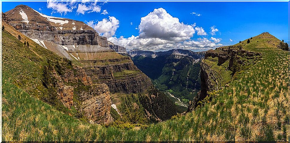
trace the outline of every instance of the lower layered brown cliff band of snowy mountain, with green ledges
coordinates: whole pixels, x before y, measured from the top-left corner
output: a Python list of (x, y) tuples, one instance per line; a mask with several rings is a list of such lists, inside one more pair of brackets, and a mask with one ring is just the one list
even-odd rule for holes
[[(87, 63), (84, 69), (91, 76), (92, 81), (107, 84), (112, 93), (140, 93), (149, 89), (152, 86), (151, 80), (133, 64), (129, 57), (125, 58), (120, 61), (128, 60), (128, 62), (108, 65), (94, 65), (95, 60), (84, 61)], [(118, 60), (113, 62), (116, 61)], [(133, 73), (127, 74), (126, 71)], [(121, 76), (114, 76), (117, 73)]]

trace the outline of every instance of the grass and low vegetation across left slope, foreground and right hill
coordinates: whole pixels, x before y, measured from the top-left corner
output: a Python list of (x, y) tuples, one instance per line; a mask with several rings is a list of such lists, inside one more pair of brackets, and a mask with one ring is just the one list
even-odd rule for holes
[[(3, 141), (290, 142), (290, 55), (278, 47), (280, 40), (269, 34), (253, 37), (252, 41), (258, 42), (236, 44), (262, 53), (262, 57), (236, 72), (228, 86), (212, 93), (210, 102), (186, 115), (137, 128), (82, 122), (37, 99), (47, 91), (41, 82), (47, 59), (67, 63), (44, 48), (36, 48), (33, 41), (29, 41), (30, 47), (24, 46), (17, 35), (2, 31)], [(219, 68), (223, 64), (216, 67), (215, 58), (207, 60), (223, 77), (231, 76), (230, 71)]]

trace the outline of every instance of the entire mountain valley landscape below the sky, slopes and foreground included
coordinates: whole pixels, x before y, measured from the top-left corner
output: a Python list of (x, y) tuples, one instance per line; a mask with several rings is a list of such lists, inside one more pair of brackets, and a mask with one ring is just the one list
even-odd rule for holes
[(284, 40), (263, 32), (202, 52), (114, 43), (26, 5), (2, 13), (2, 141), (290, 140)]

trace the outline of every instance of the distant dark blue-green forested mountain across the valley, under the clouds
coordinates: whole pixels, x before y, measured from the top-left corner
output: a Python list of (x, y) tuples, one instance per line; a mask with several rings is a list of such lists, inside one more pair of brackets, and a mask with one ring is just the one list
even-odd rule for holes
[(169, 50), (152, 52), (131, 50), (134, 64), (149, 78), (159, 90), (167, 91), (187, 103), (200, 90), (200, 60), (205, 52), (190, 50)]

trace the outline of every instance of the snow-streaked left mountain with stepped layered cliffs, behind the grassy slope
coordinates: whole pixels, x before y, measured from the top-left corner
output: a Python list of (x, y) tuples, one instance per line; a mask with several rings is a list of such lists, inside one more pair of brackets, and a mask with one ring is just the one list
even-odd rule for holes
[(42, 47), (83, 67), (94, 83), (105, 83), (112, 93), (138, 93), (151, 85), (127, 56), (124, 47), (107, 41), (81, 21), (46, 16), (26, 5), (5, 13), (8, 23)]

